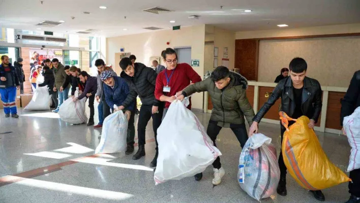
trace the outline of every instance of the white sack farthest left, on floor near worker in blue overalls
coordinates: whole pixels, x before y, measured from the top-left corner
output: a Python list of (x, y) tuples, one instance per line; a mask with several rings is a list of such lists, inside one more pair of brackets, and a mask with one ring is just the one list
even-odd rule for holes
[(49, 90), (46, 86), (38, 87), (34, 91), (33, 98), (26, 105), (24, 110), (50, 110), (51, 104), (51, 95), (49, 95)]

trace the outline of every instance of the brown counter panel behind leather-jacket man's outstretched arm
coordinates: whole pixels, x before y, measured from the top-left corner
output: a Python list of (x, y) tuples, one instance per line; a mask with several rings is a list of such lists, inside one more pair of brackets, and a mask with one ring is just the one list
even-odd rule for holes
[[(264, 105), (264, 103), (267, 101), (268, 97), (265, 97), (265, 93), (272, 93), (274, 88), (267, 87), (267, 86), (259, 86), (259, 104), (258, 104), (258, 110)], [(281, 104), (281, 99), (278, 99), (278, 101), (275, 102), (275, 104), (267, 111), (267, 113), (264, 115), (264, 119), (272, 119), (272, 120), (278, 120), (280, 121), (280, 115), (279, 115), (279, 105)]]

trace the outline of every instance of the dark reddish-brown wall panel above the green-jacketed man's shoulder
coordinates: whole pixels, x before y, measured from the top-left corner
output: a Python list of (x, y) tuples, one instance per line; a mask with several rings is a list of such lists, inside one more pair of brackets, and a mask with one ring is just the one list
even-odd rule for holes
[(259, 40), (235, 40), (235, 68), (248, 80), (257, 81)]

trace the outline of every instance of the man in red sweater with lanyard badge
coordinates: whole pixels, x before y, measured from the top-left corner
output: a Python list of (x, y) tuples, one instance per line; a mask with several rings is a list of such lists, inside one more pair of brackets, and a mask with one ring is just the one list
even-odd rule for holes
[[(155, 97), (165, 101), (164, 117), (170, 103), (173, 102), (177, 92), (183, 91), (189, 84), (201, 81), (201, 77), (186, 63), (177, 64), (177, 55), (174, 49), (167, 48), (162, 52), (166, 63), (165, 71), (156, 78)], [(188, 106), (191, 109), (191, 100)]]

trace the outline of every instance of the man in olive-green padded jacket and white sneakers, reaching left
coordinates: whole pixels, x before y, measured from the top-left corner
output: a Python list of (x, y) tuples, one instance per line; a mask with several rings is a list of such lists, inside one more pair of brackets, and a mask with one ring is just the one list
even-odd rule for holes
[[(223, 127), (230, 128), (243, 148), (248, 140), (244, 115), (249, 126), (253, 123), (255, 116), (254, 110), (246, 97), (247, 88), (248, 81), (242, 75), (230, 72), (224, 66), (219, 66), (214, 70), (211, 77), (188, 86), (183, 92), (178, 92), (177, 99), (182, 101), (195, 92), (207, 91), (214, 105), (206, 130), (207, 135), (216, 146), (215, 140), (220, 130)], [(225, 175), (219, 157), (214, 161), (213, 166), (213, 184), (219, 185), (221, 178)], [(195, 180), (199, 181), (201, 178), (202, 173), (195, 175)]]

